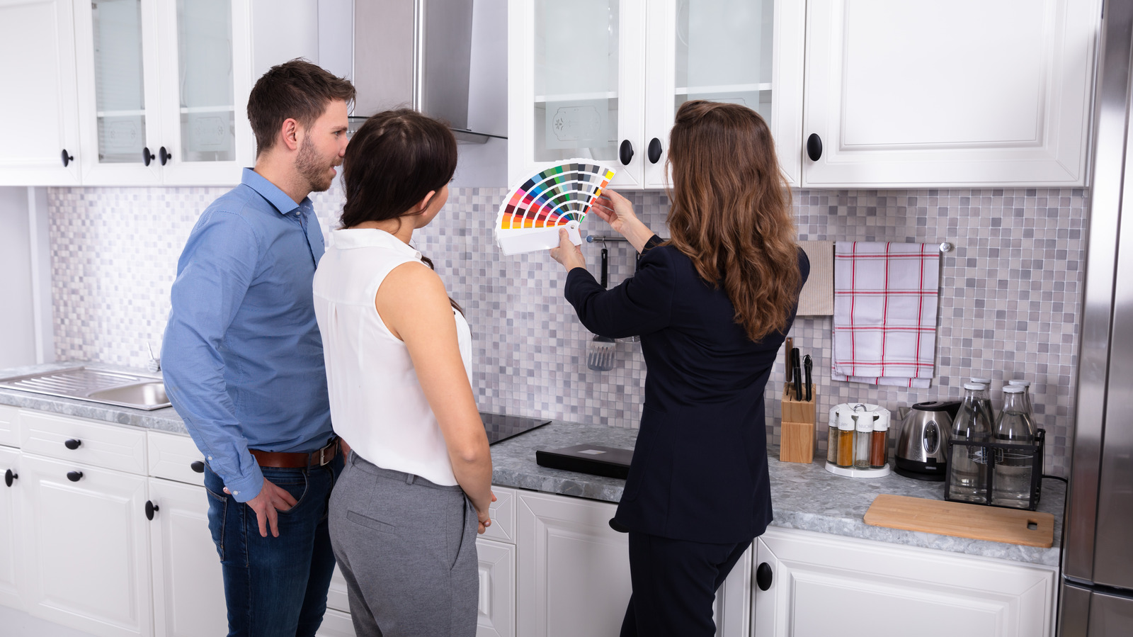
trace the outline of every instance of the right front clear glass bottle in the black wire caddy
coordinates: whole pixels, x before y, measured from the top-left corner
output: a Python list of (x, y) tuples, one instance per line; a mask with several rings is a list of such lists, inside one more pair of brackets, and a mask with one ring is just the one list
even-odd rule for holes
[[(1026, 414), (1026, 388), (1003, 388), (1003, 411), (995, 423), (991, 440), (1011, 444), (1034, 444), (1034, 425)], [(995, 478), (991, 503), (1025, 509), (1031, 502), (1031, 469), (1034, 456), (1019, 449), (995, 450)]]

